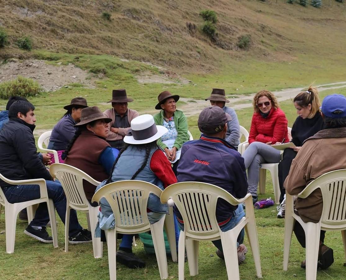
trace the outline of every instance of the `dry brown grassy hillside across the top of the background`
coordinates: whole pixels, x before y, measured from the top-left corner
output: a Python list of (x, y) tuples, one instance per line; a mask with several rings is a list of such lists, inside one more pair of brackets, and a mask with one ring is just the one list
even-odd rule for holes
[[(0, 49), (2, 58), (31, 56), (14, 44), (29, 35), (34, 49), (110, 54), (185, 73), (215, 72), (244, 59), (299, 62), (320, 70), (345, 63), (345, 4), (334, 0), (319, 9), (285, 0), (0, 0), (0, 6), (0, 27), (11, 42)], [(217, 13), (216, 42), (200, 31), (204, 9)], [(197, 29), (189, 30), (187, 23)], [(248, 51), (237, 47), (245, 34), (251, 36)]]

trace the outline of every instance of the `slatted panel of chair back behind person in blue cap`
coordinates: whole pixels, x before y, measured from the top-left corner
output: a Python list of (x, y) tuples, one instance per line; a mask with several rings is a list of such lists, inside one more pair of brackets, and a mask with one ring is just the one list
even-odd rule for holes
[(328, 221), (345, 221), (345, 180), (328, 183), (330, 207)]

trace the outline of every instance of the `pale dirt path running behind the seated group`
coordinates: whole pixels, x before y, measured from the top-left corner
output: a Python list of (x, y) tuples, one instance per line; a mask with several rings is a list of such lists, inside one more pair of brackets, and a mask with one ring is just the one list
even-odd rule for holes
[[(345, 88), (345, 87), (346, 87), (346, 81), (317, 86), (318, 91)], [(273, 93), (275, 94), (277, 100), (280, 102), (287, 99), (293, 99), (294, 96), (296, 96), (301, 90), (302, 88), (288, 88), (288, 89), (283, 89), (279, 91), (273, 91)], [(235, 110), (251, 107), (254, 95), (255, 93), (250, 95), (247, 94), (241, 97), (233, 97), (233, 98), (230, 97), (228, 98), (229, 103), (227, 104), (227, 106), (231, 106)], [(183, 111), (186, 116), (195, 115), (198, 112), (200, 112), (204, 107), (210, 104), (209, 101), (205, 101), (203, 99), (201, 100), (201, 99), (191, 99), (191, 98), (181, 97), (180, 100), (187, 103), (187, 104), (183, 104), (179, 106), (179, 110)]]

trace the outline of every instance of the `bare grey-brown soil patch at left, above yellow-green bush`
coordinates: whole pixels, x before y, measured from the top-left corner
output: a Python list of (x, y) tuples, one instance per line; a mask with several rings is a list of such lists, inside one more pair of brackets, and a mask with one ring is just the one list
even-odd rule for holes
[(54, 91), (72, 83), (82, 84), (87, 88), (95, 88), (95, 78), (73, 64), (50, 65), (44, 60), (19, 61), (11, 59), (0, 65), (0, 82), (16, 79), (17, 76), (37, 81), (45, 91)]

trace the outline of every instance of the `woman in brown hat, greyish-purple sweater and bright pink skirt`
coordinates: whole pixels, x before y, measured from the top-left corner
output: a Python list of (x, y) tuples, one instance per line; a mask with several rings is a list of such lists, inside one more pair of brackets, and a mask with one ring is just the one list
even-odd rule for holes
[[(81, 111), (88, 107), (86, 99), (83, 97), (75, 97), (71, 100), (71, 104), (64, 106), (67, 110), (60, 121), (54, 126), (47, 149), (56, 150), (59, 157), (59, 162), (64, 163), (61, 158), (62, 153), (69, 145), (73, 138), (76, 128), (75, 124), (81, 120)], [(51, 155), (51, 161), (54, 163), (54, 156)]]

